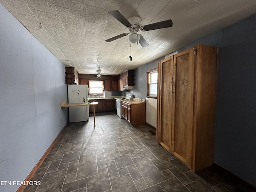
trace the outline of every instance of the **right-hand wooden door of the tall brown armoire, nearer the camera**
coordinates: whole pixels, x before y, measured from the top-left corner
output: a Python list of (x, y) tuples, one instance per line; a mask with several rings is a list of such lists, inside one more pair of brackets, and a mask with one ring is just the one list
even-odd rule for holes
[(172, 149), (183, 162), (192, 162), (194, 54), (192, 49), (174, 55), (172, 94)]

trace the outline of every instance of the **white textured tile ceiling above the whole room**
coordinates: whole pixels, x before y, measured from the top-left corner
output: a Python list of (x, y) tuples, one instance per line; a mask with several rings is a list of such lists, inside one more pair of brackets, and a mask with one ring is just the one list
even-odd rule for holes
[[(80, 74), (118, 75), (170, 54), (256, 13), (256, 0), (0, 0), (65, 66)], [(140, 16), (142, 25), (172, 19), (173, 26), (141, 32), (149, 46), (132, 44), (129, 32), (108, 14)], [(4, 26), (1, 26), (4, 27)], [(132, 61), (128, 58), (132, 56)]]

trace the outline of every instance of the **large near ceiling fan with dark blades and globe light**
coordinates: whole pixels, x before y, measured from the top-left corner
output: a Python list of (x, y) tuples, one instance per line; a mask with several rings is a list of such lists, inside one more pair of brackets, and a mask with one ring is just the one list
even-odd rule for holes
[(114, 36), (112, 38), (109, 38), (105, 40), (106, 42), (114, 41), (116, 39), (119, 39), (131, 33), (129, 36), (129, 40), (131, 43), (137, 42), (138, 44), (139, 42), (142, 47), (146, 47), (148, 46), (148, 42), (146, 42), (146, 40), (141, 34), (138, 34), (138, 31), (150, 31), (150, 30), (167, 28), (172, 26), (171, 19), (141, 26), (142, 19), (140, 17), (133, 16), (128, 18), (127, 20), (118, 10), (110, 11), (108, 13), (112, 15), (114, 18), (116, 18), (118, 21), (120, 21), (124, 26), (126, 26), (130, 30), (130, 32), (123, 33), (123, 34)]

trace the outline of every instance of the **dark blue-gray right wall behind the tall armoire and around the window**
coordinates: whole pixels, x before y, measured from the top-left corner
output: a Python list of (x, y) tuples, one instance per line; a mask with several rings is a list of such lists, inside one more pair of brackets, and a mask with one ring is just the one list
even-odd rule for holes
[[(214, 125), (214, 162), (256, 186), (256, 14), (196, 44), (219, 48)], [(160, 58), (159, 60), (162, 60)], [(157, 60), (155, 61), (157, 63)], [(154, 62), (153, 62), (154, 63)], [(136, 70), (134, 94), (146, 95), (146, 64)], [(152, 67), (154, 68), (154, 67)], [(137, 84), (138, 82), (138, 84)], [(138, 95), (138, 96), (137, 96)]]

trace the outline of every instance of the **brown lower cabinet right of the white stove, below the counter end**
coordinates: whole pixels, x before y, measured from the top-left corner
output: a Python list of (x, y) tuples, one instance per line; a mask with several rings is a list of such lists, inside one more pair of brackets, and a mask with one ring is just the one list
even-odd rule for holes
[(133, 126), (146, 124), (146, 104), (129, 104), (122, 102), (122, 116)]

